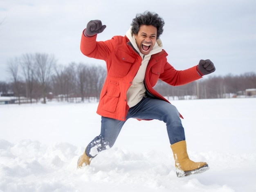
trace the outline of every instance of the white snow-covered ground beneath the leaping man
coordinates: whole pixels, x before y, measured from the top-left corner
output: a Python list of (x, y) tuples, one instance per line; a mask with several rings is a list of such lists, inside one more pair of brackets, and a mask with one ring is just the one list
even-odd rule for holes
[(77, 170), (100, 131), (97, 103), (0, 105), (0, 192), (254, 192), (256, 98), (171, 101), (202, 174), (177, 178), (165, 125), (129, 119), (115, 145)]

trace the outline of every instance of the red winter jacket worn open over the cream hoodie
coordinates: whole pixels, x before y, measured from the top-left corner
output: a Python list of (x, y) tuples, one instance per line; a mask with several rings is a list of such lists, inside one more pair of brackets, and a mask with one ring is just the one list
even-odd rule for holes
[[(141, 56), (133, 49), (126, 36), (114, 36), (104, 42), (97, 42), (96, 38), (97, 35), (88, 38), (82, 34), (80, 49), (84, 55), (104, 60), (107, 65), (107, 77), (101, 90), (97, 113), (124, 121), (129, 110), (126, 92), (139, 69)], [(179, 86), (201, 78), (196, 66), (184, 71), (175, 70), (167, 62), (167, 55), (162, 50), (151, 56), (144, 79), (146, 89), (166, 102), (168, 100), (153, 89), (158, 79), (172, 86)]]

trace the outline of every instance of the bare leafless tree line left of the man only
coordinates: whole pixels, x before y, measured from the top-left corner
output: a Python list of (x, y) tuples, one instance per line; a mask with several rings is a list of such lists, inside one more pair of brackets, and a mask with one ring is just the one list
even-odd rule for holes
[[(22, 98), (30, 103), (48, 99), (71, 101), (99, 97), (106, 77), (106, 69), (99, 65), (70, 63), (56, 64), (54, 55), (34, 53), (16, 57), (7, 62), (10, 82), (0, 82), (2, 96)], [(11, 94), (10, 94), (11, 93)]]

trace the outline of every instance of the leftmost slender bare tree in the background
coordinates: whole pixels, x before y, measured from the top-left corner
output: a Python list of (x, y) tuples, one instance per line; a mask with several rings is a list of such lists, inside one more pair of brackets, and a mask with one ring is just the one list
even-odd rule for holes
[(7, 62), (7, 72), (11, 75), (13, 82), (13, 90), (15, 95), (18, 97), (18, 103), (20, 104), (20, 93), (21, 93), (21, 82), (18, 76), (19, 61), (18, 58), (11, 59)]

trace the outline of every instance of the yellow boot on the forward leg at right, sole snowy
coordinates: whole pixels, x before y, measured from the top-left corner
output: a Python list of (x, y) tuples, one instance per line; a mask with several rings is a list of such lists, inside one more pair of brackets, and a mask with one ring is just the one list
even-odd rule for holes
[(209, 170), (206, 162), (194, 162), (189, 159), (186, 150), (186, 141), (179, 141), (172, 144), (171, 149), (173, 150), (177, 177), (186, 177)]

